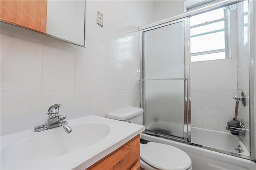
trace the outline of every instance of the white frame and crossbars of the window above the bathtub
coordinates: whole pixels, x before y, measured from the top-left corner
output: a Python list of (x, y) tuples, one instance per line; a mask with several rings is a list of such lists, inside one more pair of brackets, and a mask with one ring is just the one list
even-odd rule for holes
[[(229, 10), (225, 10), (224, 8), (223, 8), (223, 10), (224, 10), (224, 17), (223, 18), (213, 20), (213, 21), (204, 22), (204, 23), (200, 23), (200, 24), (197, 24), (197, 25), (193, 25), (193, 26), (190, 27), (190, 29), (200, 27), (200, 26), (204, 26), (204, 25), (208, 25), (208, 24), (211, 24), (211, 23), (216, 23), (216, 22), (219, 22), (219, 21), (224, 21), (224, 29), (217, 29), (217, 30), (214, 30), (214, 31), (208, 31), (208, 32), (199, 33), (199, 34), (196, 34), (196, 35), (190, 35), (190, 38), (197, 37), (197, 36), (200, 36), (200, 35), (206, 35), (206, 34), (210, 34), (210, 33), (216, 33), (216, 32), (220, 32), (220, 31), (224, 31), (224, 33), (225, 33), (225, 48), (224, 49), (217, 49), (217, 50), (210, 50), (210, 51), (201, 51), (201, 52), (198, 52), (198, 53), (191, 53), (190, 54), (191, 57), (198, 56), (198, 55), (225, 52), (225, 58), (226, 59), (231, 58), (231, 52), (230, 52), (231, 51), (231, 48), (230, 48), (230, 19), (229, 19), (230, 18), (230, 13), (229, 13)], [(209, 61), (209, 60), (205, 60), (205, 61)]]

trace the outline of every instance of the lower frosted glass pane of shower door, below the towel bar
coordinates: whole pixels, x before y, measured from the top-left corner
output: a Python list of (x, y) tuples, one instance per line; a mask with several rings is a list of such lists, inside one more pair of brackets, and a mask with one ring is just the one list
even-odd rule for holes
[(145, 128), (184, 138), (184, 80), (145, 82)]

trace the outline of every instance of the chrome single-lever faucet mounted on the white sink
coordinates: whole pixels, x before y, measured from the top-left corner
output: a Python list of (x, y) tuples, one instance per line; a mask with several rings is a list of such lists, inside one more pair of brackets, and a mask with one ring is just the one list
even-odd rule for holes
[(66, 119), (66, 115), (59, 115), (60, 106), (62, 106), (62, 104), (54, 104), (50, 106), (47, 113), (48, 120), (42, 125), (35, 126), (34, 131), (40, 132), (62, 126), (66, 133), (70, 133), (72, 128), (68, 125), (67, 121), (64, 121), (64, 119)]

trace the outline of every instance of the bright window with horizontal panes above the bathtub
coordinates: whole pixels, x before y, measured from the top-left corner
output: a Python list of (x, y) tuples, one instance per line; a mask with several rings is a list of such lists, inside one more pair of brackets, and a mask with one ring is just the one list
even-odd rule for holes
[(230, 58), (226, 22), (224, 8), (190, 17), (191, 62)]

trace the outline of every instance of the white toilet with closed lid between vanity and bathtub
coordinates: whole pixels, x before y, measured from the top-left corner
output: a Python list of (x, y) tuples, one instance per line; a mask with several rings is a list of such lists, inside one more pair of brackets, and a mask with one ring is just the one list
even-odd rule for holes
[[(107, 113), (106, 117), (143, 125), (143, 109), (124, 107)], [(144, 170), (192, 170), (191, 159), (181, 149), (162, 143), (140, 144), (140, 166)]]

